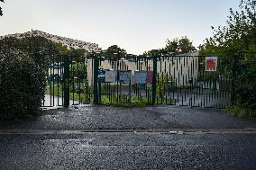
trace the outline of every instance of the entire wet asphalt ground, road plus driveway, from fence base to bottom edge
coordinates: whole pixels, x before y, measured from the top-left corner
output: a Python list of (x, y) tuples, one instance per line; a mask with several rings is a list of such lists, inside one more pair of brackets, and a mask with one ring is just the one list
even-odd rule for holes
[(0, 123), (0, 169), (256, 169), (256, 121), (202, 108), (78, 107)]

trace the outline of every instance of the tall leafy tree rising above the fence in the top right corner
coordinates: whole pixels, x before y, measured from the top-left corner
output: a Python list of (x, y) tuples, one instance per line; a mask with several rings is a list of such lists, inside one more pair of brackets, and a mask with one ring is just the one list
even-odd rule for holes
[(239, 11), (230, 9), (225, 26), (213, 29), (213, 36), (200, 45), (200, 54), (229, 57), (238, 51), (256, 50), (256, 17), (253, 0), (241, 0)]

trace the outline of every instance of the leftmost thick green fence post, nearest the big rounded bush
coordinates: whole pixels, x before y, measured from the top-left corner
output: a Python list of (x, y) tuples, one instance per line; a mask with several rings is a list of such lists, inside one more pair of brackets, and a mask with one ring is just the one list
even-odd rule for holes
[(69, 107), (69, 56), (63, 56), (64, 58), (64, 107)]

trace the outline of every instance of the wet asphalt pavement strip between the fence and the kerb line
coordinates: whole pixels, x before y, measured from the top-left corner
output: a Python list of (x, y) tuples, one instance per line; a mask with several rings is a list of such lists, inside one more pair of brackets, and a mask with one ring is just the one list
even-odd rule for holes
[(0, 130), (171, 130), (255, 129), (255, 120), (242, 120), (223, 110), (156, 106), (122, 108), (76, 106), (43, 111), (26, 121), (0, 123)]

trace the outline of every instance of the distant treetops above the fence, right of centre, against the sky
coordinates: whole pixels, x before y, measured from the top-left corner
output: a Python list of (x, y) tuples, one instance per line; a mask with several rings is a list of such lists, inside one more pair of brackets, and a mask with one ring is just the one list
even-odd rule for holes
[(178, 55), (185, 54), (188, 52), (196, 51), (197, 49), (193, 46), (191, 40), (185, 37), (181, 37), (180, 39), (175, 38), (173, 40), (167, 39), (165, 48), (162, 49), (151, 49), (149, 51), (144, 52), (145, 56), (153, 56), (153, 55)]

